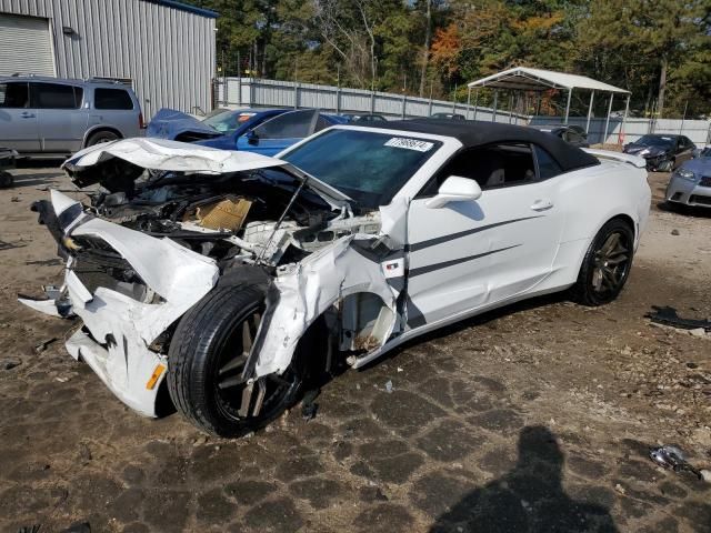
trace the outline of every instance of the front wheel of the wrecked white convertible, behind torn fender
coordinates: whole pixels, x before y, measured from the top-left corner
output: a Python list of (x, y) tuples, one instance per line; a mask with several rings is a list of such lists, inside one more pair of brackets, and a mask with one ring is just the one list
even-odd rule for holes
[[(262, 289), (219, 288), (188, 311), (176, 329), (168, 353), (170, 398), (192, 424), (207, 433), (232, 438), (261, 428), (293, 404), (301, 391), (303, 370), (299, 368), (301, 358), (294, 354), (280, 376), (260, 378), (249, 389), (247, 410), (240, 412), (249, 388), (237, 383), (246, 362), (244, 332), (248, 336), (249, 331), (256, 332), (254, 321), (258, 325), (263, 310)], [(250, 414), (256, 409), (254, 394), (262, 386), (262, 408)]]

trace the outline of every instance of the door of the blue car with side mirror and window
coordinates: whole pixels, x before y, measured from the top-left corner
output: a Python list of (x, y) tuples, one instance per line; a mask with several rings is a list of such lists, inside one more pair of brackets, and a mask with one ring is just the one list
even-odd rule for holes
[(239, 137), (237, 149), (274, 155), (317, 131), (319, 118), (314, 109), (279, 114)]

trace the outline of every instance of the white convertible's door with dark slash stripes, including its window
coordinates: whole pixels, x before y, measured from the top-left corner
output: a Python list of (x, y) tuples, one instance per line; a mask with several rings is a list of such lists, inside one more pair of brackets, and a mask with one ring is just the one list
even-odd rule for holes
[[(514, 298), (551, 272), (562, 224), (557, 185), (545, 178), (560, 168), (547, 153), (538, 160), (527, 144), (461, 152), (411, 202), (411, 326)], [(481, 198), (429, 208), (449, 175), (477, 180)]]

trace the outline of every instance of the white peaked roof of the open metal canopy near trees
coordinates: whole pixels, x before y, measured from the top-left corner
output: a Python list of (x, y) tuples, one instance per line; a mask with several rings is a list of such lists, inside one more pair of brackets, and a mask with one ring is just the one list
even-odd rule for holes
[(552, 70), (530, 69), (517, 67), (481, 80), (468, 83), (470, 89), (491, 88), (512, 91), (548, 91), (549, 89), (587, 89), (601, 92), (618, 92), (629, 94), (630, 91), (610, 86), (592, 78), (578, 74), (567, 74)]

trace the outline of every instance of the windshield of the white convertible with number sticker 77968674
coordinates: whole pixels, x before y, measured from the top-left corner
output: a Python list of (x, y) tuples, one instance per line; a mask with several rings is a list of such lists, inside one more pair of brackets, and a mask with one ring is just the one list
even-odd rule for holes
[(377, 209), (390, 203), (442, 143), (373, 131), (331, 130), (281, 159)]

